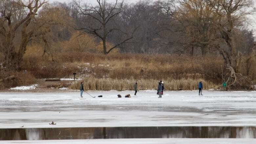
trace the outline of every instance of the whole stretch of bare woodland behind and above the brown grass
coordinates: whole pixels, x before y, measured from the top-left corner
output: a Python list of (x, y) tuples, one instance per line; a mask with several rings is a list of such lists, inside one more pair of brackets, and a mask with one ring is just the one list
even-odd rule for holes
[(253, 0), (95, 1), (2, 0), (0, 72), (32, 69), (26, 66), (33, 67), (35, 57), (54, 63), (67, 52), (221, 56), (216, 79), (234, 87), (253, 85)]

